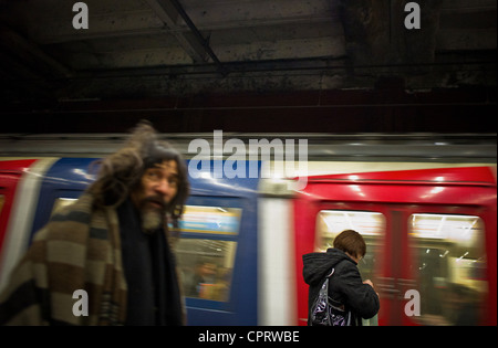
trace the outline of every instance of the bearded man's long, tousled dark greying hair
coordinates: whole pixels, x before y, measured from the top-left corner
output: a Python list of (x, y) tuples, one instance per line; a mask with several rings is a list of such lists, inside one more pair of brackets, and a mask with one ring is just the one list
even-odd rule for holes
[(176, 225), (190, 191), (187, 166), (176, 149), (167, 141), (158, 140), (156, 130), (146, 120), (138, 123), (122, 149), (96, 161), (98, 175), (87, 188), (94, 196), (94, 204), (120, 205), (141, 184), (145, 170), (164, 160), (175, 160), (178, 170), (178, 190), (167, 208)]

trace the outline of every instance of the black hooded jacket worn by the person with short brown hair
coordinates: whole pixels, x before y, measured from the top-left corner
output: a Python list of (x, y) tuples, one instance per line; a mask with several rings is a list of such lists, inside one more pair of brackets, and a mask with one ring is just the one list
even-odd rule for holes
[[(329, 249), (326, 253), (311, 253), (302, 256), (304, 282), (310, 285), (308, 313), (317, 298), (325, 276), (335, 268), (329, 281), (329, 296), (350, 308), (353, 325), (361, 325), (361, 318), (375, 316), (380, 308), (378, 296), (372, 286), (363, 284), (360, 271), (350, 256), (339, 249)], [(308, 317), (310, 317), (308, 315)]]

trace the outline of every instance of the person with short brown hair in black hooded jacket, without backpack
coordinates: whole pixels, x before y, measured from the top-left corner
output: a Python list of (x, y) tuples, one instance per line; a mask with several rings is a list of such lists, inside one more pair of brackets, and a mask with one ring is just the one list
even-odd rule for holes
[(351, 325), (362, 325), (362, 318), (372, 318), (380, 308), (378, 294), (373, 283), (370, 280), (363, 282), (356, 266), (366, 253), (365, 241), (356, 231), (345, 230), (334, 239), (333, 246), (325, 253), (310, 253), (302, 256), (304, 282), (310, 285), (308, 312), (325, 277), (334, 268), (334, 274), (329, 281), (329, 296), (334, 302), (343, 304), (346, 309), (351, 309)]

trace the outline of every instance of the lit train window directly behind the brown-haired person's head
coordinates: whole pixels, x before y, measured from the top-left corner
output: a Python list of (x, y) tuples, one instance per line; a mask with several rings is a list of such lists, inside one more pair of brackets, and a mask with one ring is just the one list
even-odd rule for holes
[(364, 280), (373, 280), (384, 241), (384, 215), (370, 211), (322, 210), (317, 217), (315, 251), (325, 252), (333, 247), (335, 236), (344, 230), (357, 231), (365, 240), (366, 254), (360, 261), (359, 270)]

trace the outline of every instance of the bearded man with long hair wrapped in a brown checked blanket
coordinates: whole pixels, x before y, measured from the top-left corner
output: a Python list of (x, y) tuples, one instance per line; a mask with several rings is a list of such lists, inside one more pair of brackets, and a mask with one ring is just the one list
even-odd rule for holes
[(35, 234), (0, 295), (0, 324), (185, 324), (167, 229), (189, 193), (185, 161), (143, 122), (98, 165), (81, 198)]

